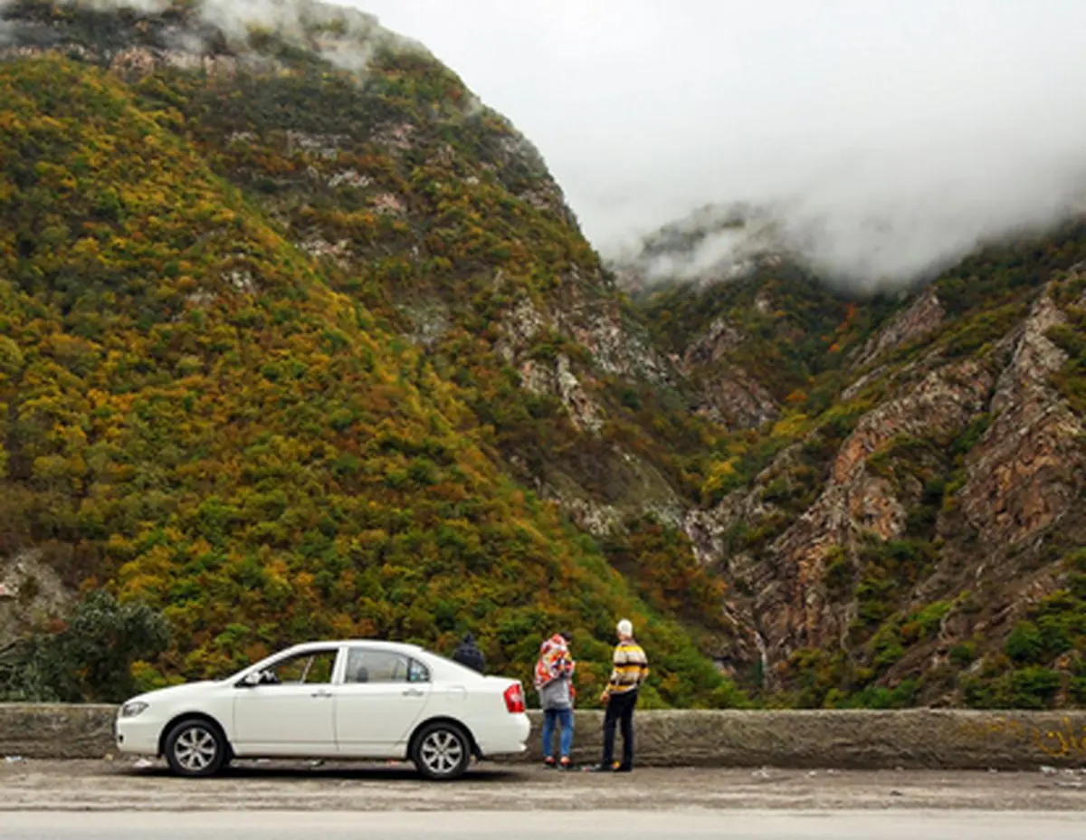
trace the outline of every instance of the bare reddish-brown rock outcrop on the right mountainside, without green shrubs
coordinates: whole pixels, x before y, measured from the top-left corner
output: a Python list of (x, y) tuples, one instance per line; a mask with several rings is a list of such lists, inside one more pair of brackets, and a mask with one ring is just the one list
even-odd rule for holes
[[(936, 294), (923, 294), (868, 342), (854, 369), (870, 366), (892, 349), (931, 334), (943, 317)], [(946, 517), (960, 511), (964, 525), (977, 535), (986, 562), (980, 562), (981, 557), (972, 562), (976, 549), (970, 554), (955, 543), (956, 548), (947, 549), (951, 552), (947, 556), (954, 560), (946, 568), (938, 567), (938, 574), (923, 585), (918, 581), (912, 595), (923, 605), (951, 599), (963, 587), (981, 587), (984, 581), (988, 598), (998, 599), (998, 604), (994, 601), (990, 614), (970, 620), (951, 613), (952, 627), (940, 628), (942, 647), (929, 655), (945, 660), (950, 637), (968, 639), (993, 620), (1013, 623), (1021, 614), (1015, 604), (1036, 601), (1059, 585), (1055, 571), (1036, 572), (1030, 579), (1037, 592), (1027, 598), (1014, 589), (1023, 573), (1009, 557), (1013, 547), (1060, 523), (1070, 523), (1071, 517), (1075, 517), (1073, 528), (1078, 530), (1068, 532), (1066, 539), (1073, 543), (1074, 534), (1083, 528), (1079, 514), (1086, 498), (1086, 435), (1082, 418), (1050, 383), (1066, 355), (1047, 334), (1065, 321), (1065, 313), (1047, 290), (1018, 327), (982, 354), (951, 361), (939, 343), (933, 343), (911, 364), (893, 369), (876, 366), (866, 374), (846, 392), (847, 399), (857, 399), (875, 380), (880, 380), (879, 389), (891, 396), (860, 418), (825, 466), (815, 502), (798, 515), (781, 510), (766, 490), (787, 480), (801, 443), (780, 453), (750, 487), (733, 492), (711, 511), (686, 517), (684, 527), (698, 559), (718, 568), (732, 582), (733, 591), (746, 593), (745, 600), (740, 600), (738, 620), (765, 642), (763, 670), (770, 688), (774, 665), (792, 652), (804, 648), (839, 650), (849, 644), (857, 602), (828, 590), (825, 575), (831, 560), (855, 563), (866, 541), (889, 541), (906, 535), (923, 484), (908, 476), (892, 480), (884, 469), (869, 465), (872, 456), (888, 448), (908, 446), (909, 441), (956, 440), (971, 424), (990, 418), (986, 432), (965, 455), (964, 485), (951, 488), (955, 497), (950, 506), (944, 505), (938, 521), (939, 534), (946, 535), (940, 540), (959, 540), (962, 525), (948, 525)], [(918, 466), (915, 461), (910, 464)], [(768, 528), (780, 536), (754, 552), (743, 549), (742, 543), (735, 549), (728, 535), (740, 525), (747, 531)], [(970, 569), (969, 581), (960, 578), (962, 568)]]

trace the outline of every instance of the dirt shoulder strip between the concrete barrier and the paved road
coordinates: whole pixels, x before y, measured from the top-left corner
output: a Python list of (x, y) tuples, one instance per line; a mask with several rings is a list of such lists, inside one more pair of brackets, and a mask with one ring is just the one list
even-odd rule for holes
[(462, 781), (430, 783), (406, 765), (262, 762), (214, 779), (187, 780), (173, 778), (157, 763), (0, 758), (3, 811), (616, 807), (1086, 811), (1086, 775), (668, 768), (601, 776), (483, 764)]

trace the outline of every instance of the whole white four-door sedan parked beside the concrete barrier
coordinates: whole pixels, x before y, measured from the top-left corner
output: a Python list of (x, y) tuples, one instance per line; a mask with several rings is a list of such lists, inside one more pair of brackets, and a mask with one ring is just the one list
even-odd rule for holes
[(518, 680), (484, 677), (413, 644), (299, 644), (233, 676), (135, 697), (117, 712), (122, 753), (165, 755), (211, 776), (233, 758), (409, 758), (431, 779), (525, 751)]

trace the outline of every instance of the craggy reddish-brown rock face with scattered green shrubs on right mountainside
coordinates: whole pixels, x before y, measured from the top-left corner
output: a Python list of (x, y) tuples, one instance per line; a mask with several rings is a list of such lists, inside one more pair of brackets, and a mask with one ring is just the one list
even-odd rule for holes
[[(1065, 572), (1043, 560), (1045, 547), (1058, 559), (1068, 549), (1056, 547), (1086, 542), (1086, 435), (1053, 379), (1069, 362), (1049, 337), (1069, 321), (1059, 288), (1030, 293), (1021, 319), (963, 354), (946, 336), (968, 330), (948, 321), (932, 287), (849, 360), (856, 378), (834, 412), (857, 419), (821, 466), (810, 459), (828, 432), (816, 424), (749, 486), (687, 516), (699, 560), (737, 593), (734, 615), (759, 642), (769, 689), (787, 685), (788, 663), (805, 651), (871, 663), (863, 667), (891, 686), (946, 669), (956, 644), (1001, 644), (1059, 589)], [(720, 325), (710, 334), (728, 340)], [(919, 352), (895, 362), (906, 344)], [(708, 346), (692, 347), (711, 358)], [(821, 473), (813, 485), (797, 485), (805, 465)], [(798, 507), (786, 501), (797, 486), (817, 487)], [(909, 577), (880, 577), (895, 573), (872, 572), (882, 562), (872, 552), (901, 553), (896, 574)], [(974, 590), (988, 606), (959, 607)], [(881, 591), (888, 600), (877, 605)], [(938, 622), (913, 630), (910, 614), (929, 607)], [(886, 640), (898, 652), (879, 653)], [(952, 680), (934, 685), (930, 701), (960, 702)]]

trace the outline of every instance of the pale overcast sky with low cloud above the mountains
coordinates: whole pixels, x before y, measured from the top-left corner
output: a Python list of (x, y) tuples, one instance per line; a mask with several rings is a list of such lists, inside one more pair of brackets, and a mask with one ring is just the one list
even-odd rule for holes
[(513, 118), (604, 251), (784, 199), (813, 259), (894, 280), (1081, 195), (1086, 0), (352, 2)]

